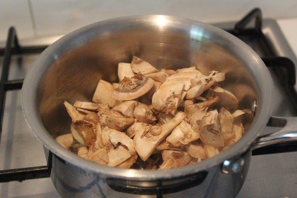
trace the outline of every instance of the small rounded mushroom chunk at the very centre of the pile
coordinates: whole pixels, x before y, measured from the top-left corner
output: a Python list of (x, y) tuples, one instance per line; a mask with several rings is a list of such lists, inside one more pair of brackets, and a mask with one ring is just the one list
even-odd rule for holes
[(152, 124), (157, 118), (146, 104), (138, 104), (134, 109), (134, 117), (140, 122)]

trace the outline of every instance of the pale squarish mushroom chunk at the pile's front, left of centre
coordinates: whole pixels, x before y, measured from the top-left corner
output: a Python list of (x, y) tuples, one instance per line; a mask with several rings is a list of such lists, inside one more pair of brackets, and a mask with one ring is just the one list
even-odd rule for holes
[(131, 154), (125, 146), (119, 145), (107, 152), (108, 163), (107, 166), (117, 166), (131, 157)]

